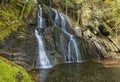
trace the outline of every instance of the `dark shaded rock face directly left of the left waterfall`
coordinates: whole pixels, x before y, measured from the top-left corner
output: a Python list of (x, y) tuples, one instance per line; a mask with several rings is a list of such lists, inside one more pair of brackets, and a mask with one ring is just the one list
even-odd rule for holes
[(27, 70), (34, 67), (37, 41), (34, 36), (34, 26), (21, 27), (12, 33), (1, 45), (0, 54)]

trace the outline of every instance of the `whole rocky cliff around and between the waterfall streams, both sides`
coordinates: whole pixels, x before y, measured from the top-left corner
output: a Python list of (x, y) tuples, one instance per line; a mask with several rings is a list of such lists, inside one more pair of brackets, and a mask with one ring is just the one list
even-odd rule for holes
[[(65, 61), (64, 56), (68, 55), (68, 44), (70, 40), (70, 37), (61, 30), (62, 21), (60, 13), (61, 11), (64, 12), (64, 10), (58, 9), (57, 13), (59, 17), (55, 21), (55, 11), (46, 6), (49, 5), (49, 2), (45, 3), (43, 0), (40, 3), (42, 3), (43, 20), (45, 21), (45, 27), (40, 29), (40, 32), (43, 36), (46, 53), (52, 64), (62, 63)], [(22, 65), (28, 70), (34, 68), (38, 51), (38, 44), (34, 35), (37, 27), (37, 6), (37, 3), (35, 3), (32, 8), (33, 12), (30, 13), (28, 18), (24, 19), (28, 25), (20, 26), (17, 32), (12, 32), (0, 44), (0, 54), (2, 56)], [(57, 5), (55, 7), (57, 8)], [(69, 8), (68, 12), (71, 10)], [(73, 16), (68, 13), (68, 16), (73, 21), (71, 24), (69, 24), (68, 18), (65, 16), (65, 28), (68, 33), (74, 35), (82, 60), (91, 58), (119, 59), (118, 54), (120, 48), (115, 43), (114, 37), (112, 37), (114, 36), (114, 31), (104, 22), (102, 12), (99, 12), (95, 5), (94, 8), (91, 8), (90, 5), (86, 5), (85, 3), (82, 4), (80, 11), (79, 22), (75, 21), (77, 19), (77, 13), (74, 11), (73, 14), (75, 15)], [(55, 26), (55, 22), (57, 26)], [(75, 54), (74, 48), (72, 49), (71, 53)]]

